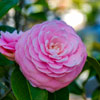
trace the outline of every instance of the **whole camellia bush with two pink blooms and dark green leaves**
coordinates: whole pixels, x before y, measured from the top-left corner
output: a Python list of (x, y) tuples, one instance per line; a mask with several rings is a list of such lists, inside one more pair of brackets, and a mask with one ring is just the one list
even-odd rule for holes
[[(18, 2), (0, 1), (0, 18)], [(85, 70), (90, 74), (80, 88), (76, 79)], [(65, 22), (44, 21), (24, 32), (0, 26), (0, 100), (69, 100), (69, 93), (86, 100), (84, 86), (92, 76), (100, 82), (100, 63)], [(92, 99), (99, 94), (97, 88)]]

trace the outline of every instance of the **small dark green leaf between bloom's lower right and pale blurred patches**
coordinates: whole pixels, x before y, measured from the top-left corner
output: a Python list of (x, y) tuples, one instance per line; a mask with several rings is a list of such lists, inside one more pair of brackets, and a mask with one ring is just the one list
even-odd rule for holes
[(68, 87), (69, 87), (70, 93), (82, 95), (84, 92), (84, 90), (82, 88), (80, 88), (75, 81), (73, 81)]

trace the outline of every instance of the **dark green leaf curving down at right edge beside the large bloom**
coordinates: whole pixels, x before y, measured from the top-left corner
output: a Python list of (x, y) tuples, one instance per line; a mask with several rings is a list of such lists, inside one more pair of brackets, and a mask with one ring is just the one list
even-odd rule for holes
[(100, 79), (100, 63), (92, 57), (87, 57), (88, 62), (90, 63), (90, 65), (95, 69), (99, 79)]

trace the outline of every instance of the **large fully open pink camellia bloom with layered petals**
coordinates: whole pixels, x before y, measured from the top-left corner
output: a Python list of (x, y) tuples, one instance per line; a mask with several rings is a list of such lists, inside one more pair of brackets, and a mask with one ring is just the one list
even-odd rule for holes
[(16, 44), (15, 59), (33, 87), (50, 92), (69, 85), (86, 61), (85, 45), (62, 21), (47, 21), (25, 32)]

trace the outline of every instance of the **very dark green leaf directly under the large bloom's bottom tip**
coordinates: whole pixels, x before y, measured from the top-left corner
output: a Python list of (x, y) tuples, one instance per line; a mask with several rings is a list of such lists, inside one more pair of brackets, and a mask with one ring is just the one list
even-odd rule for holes
[(54, 93), (49, 93), (48, 100), (69, 100), (68, 86)]

